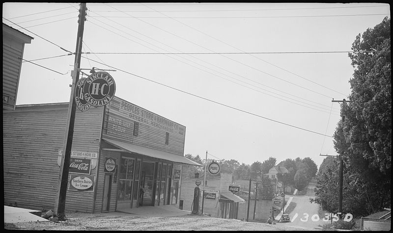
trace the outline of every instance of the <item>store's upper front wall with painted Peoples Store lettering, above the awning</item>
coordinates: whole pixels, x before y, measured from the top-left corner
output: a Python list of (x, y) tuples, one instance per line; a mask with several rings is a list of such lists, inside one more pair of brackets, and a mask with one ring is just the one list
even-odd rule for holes
[[(118, 97), (114, 97), (108, 105), (103, 136), (183, 156), (186, 131), (184, 126)], [(138, 136), (133, 135), (134, 122), (139, 122)], [(167, 132), (168, 145), (165, 144)]]

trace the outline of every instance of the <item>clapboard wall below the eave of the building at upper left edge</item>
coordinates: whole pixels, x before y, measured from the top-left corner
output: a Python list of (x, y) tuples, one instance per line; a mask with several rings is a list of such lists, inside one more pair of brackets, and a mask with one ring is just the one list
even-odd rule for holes
[(23, 57), (23, 49), (23, 43), (3, 36), (3, 95), (9, 98), (7, 102), (3, 100), (3, 109), (14, 109), (22, 65), (18, 57)]

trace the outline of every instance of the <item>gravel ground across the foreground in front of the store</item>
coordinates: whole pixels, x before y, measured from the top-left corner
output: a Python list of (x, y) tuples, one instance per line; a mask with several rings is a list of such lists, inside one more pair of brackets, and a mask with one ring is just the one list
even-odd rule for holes
[(7, 230), (49, 231), (303, 231), (280, 223), (246, 222), (201, 215), (141, 217), (127, 213), (66, 213), (68, 221), (4, 224)]

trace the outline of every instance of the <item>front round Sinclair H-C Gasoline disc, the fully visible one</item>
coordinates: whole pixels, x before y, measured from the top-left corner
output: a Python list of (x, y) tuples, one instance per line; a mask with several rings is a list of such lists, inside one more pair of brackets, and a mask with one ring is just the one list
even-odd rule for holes
[(87, 103), (100, 107), (111, 102), (116, 91), (112, 76), (106, 72), (96, 72), (86, 78), (83, 86), (84, 99)]

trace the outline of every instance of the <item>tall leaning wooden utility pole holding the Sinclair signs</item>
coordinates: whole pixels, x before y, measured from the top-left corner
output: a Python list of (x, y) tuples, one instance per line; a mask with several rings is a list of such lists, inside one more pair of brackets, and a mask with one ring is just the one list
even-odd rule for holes
[(72, 138), (74, 136), (74, 123), (75, 123), (75, 111), (76, 111), (74, 93), (75, 93), (75, 85), (76, 83), (78, 83), (79, 80), (79, 68), (81, 65), (84, 21), (86, 21), (86, 3), (80, 3), (78, 34), (77, 34), (77, 43), (75, 49), (75, 62), (74, 62), (74, 70), (72, 72), (71, 96), (68, 105), (67, 124), (66, 124), (64, 144), (63, 144), (63, 154), (61, 155), (60, 171), (59, 171), (59, 177), (57, 182), (57, 192), (56, 192), (56, 200), (55, 200), (55, 207), (54, 207), (55, 215), (60, 221), (65, 220), (65, 214), (64, 214), (65, 199), (67, 194), (68, 171), (70, 166), (69, 163), (71, 157)]

